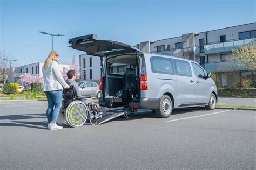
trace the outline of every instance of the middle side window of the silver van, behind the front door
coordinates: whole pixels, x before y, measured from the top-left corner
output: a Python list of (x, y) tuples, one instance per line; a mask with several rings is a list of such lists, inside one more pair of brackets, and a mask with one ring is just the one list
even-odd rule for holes
[(192, 77), (190, 63), (188, 61), (173, 59), (176, 75)]

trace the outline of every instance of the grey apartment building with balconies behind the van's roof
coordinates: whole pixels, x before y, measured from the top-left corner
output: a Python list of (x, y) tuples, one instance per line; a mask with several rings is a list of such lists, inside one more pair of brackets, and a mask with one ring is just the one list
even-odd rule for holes
[[(179, 37), (156, 41), (140, 42), (137, 47), (142, 52), (158, 53), (186, 58), (200, 63), (207, 72), (217, 74), (220, 86), (234, 86), (234, 79), (250, 75), (247, 68), (236, 65), (233, 49), (241, 45), (256, 44), (256, 23), (226, 27), (205, 32), (186, 33)], [(238, 75), (231, 76), (230, 72)], [(256, 73), (253, 72), (255, 76)]]

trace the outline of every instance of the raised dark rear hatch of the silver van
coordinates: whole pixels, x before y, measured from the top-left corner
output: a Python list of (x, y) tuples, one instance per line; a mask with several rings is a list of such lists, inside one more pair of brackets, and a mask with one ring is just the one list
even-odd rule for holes
[(139, 49), (110, 40), (98, 40), (96, 34), (80, 36), (69, 40), (71, 48), (99, 57), (140, 52)]

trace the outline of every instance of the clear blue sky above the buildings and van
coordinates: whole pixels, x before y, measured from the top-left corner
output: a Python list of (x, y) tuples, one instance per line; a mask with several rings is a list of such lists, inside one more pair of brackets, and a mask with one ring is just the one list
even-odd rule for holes
[(59, 62), (76, 63), (84, 52), (70, 48), (69, 39), (97, 34), (98, 39), (136, 45), (147, 40), (178, 37), (255, 22), (254, 0), (0, 0), (0, 50), (22, 66), (44, 62), (53, 49)]

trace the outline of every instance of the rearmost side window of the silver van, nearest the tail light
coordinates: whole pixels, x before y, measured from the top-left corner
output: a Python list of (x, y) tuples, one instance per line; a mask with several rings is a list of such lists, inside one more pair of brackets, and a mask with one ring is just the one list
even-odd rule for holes
[(150, 62), (153, 73), (174, 74), (172, 59), (152, 56)]

